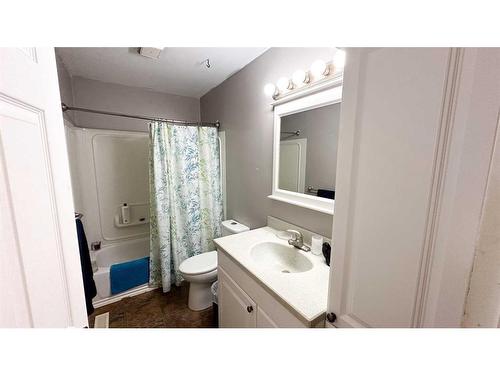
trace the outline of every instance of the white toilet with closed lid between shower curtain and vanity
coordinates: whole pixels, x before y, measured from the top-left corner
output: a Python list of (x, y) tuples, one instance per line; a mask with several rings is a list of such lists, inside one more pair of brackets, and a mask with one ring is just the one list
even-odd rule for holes
[[(249, 230), (235, 220), (222, 222), (222, 237)], [(195, 255), (179, 266), (184, 280), (189, 282), (188, 307), (191, 310), (204, 310), (212, 304), (210, 287), (217, 280), (217, 251)]]

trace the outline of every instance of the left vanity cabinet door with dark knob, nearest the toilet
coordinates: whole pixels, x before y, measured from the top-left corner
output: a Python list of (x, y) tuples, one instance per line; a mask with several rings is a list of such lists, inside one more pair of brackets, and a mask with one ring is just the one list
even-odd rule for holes
[(219, 267), (219, 326), (255, 328), (257, 304)]

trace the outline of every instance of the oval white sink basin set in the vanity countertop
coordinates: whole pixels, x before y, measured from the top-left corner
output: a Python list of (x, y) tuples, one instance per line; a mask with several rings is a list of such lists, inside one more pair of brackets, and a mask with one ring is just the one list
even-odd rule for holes
[(262, 242), (253, 246), (250, 256), (266, 269), (285, 274), (306, 272), (313, 268), (312, 262), (300, 250), (276, 242)]

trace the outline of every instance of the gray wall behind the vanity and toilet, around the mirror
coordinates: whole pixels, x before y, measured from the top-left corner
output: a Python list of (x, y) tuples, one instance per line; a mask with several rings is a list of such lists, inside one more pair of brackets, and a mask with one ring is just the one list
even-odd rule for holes
[(331, 237), (332, 216), (267, 198), (271, 194), (273, 111), (264, 85), (316, 59), (330, 48), (272, 48), (201, 98), (203, 121), (220, 120), (226, 131), (227, 214), (251, 228), (272, 215)]

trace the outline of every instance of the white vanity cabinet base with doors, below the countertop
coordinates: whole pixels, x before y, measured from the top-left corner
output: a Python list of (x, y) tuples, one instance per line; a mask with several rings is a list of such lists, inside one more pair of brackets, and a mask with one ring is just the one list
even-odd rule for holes
[(324, 317), (312, 322), (298, 316), (230, 256), (218, 251), (220, 328), (323, 327)]

